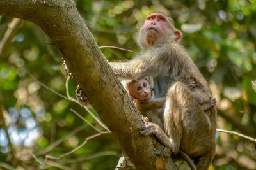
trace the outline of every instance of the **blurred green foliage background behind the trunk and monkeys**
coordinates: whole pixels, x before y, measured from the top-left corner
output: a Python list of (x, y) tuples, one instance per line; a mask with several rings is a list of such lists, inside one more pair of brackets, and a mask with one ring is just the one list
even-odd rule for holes
[[(135, 52), (136, 33), (148, 14), (172, 17), (183, 34), (180, 43), (218, 101), (218, 128), (256, 138), (255, 0), (75, 2), (99, 46)], [(0, 169), (115, 169), (123, 151), (113, 136), (99, 134), (86, 142), (98, 132), (74, 111), (106, 130), (79, 104), (56, 94), (66, 96), (67, 73), (51, 39), (31, 22), (4, 17), (0, 39)], [(134, 55), (101, 50), (108, 60)], [(71, 97), (76, 85), (68, 82)], [(222, 132), (216, 137), (210, 169), (256, 169), (255, 143)]]

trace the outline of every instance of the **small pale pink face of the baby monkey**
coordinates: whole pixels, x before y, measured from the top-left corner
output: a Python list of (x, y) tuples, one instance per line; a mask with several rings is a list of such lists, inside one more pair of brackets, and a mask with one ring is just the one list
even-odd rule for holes
[(131, 96), (133, 96), (135, 99), (138, 99), (140, 101), (147, 100), (151, 97), (151, 89), (150, 85), (147, 80), (144, 78), (141, 80), (138, 80), (134, 85), (132, 86), (130, 90)]

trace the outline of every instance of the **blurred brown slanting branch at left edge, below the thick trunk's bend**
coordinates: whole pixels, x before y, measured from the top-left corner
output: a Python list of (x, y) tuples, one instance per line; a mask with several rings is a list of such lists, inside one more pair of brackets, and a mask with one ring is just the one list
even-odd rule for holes
[(12, 41), (13, 37), (16, 35), (19, 30), (20, 25), (22, 24), (22, 20), (18, 18), (13, 18), (12, 22), (8, 24), (8, 29), (6, 30), (2, 40), (0, 41), (0, 60), (3, 60), (3, 57)]

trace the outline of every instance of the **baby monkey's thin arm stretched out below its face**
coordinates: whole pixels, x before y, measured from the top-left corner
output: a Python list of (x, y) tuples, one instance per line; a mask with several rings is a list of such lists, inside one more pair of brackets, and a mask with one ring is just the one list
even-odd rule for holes
[(163, 98), (155, 98), (148, 99), (146, 101), (136, 101), (136, 106), (138, 110), (148, 111), (148, 110), (156, 110), (163, 108), (166, 97)]

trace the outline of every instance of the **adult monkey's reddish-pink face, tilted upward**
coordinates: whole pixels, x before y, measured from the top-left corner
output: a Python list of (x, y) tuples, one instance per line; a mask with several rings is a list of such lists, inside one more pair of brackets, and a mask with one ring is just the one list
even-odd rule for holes
[(163, 36), (168, 29), (168, 19), (161, 13), (148, 15), (143, 26), (143, 31), (148, 36)]

